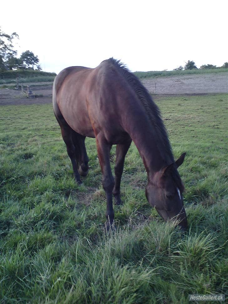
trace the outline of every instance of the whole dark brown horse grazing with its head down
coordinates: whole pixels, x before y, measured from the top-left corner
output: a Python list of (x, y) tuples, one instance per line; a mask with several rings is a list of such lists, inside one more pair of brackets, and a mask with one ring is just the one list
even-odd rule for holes
[[(120, 181), (132, 140), (147, 171), (148, 202), (165, 221), (175, 218), (182, 228), (187, 228), (184, 186), (177, 171), (185, 153), (174, 161), (158, 107), (122, 63), (110, 58), (94, 69), (83, 66), (64, 69), (54, 80), (53, 107), (78, 183), (80, 175), (88, 173), (85, 137), (96, 138), (107, 199), (107, 229), (114, 218), (112, 194), (115, 203), (121, 203)], [(110, 166), (113, 144), (117, 144), (115, 181)]]

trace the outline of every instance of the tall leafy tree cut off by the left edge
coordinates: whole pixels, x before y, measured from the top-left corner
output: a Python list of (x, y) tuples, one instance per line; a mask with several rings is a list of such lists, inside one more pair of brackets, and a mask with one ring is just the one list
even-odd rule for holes
[(13, 50), (13, 39), (19, 38), (17, 33), (11, 35), (3, 33), (0, 27), (0, 69), (5, 70), (5, 62), (12, 56), (17, 55), (17, 51)]

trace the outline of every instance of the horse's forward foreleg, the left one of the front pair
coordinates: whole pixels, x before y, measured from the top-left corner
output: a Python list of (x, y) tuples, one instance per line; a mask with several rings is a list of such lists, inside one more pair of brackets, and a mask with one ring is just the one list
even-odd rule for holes
[(107, 200), (107, 209), (106, 209), (106, 228), (112, 228), (114, 211), (112, 206), (112, 189), (114, 186), (114, 178), (111, 173), (110, 166), (110, 149), (111, 145), (108, 144), (105, 138), (98, 134), (96, 137), (97, 153), (101, 165), (102, 171), (102, 185), (105, 190), (106, 200)]

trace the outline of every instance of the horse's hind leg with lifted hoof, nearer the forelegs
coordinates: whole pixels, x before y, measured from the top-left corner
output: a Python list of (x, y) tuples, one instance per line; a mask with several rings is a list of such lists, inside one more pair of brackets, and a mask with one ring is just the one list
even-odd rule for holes
[(89, 158), (85, 149), (85, 136), (73, 132), (72, 140), (75, 146), (75, 155), (78, 165), (78, 172), (81, 176), (86, 176), (89, 171)]

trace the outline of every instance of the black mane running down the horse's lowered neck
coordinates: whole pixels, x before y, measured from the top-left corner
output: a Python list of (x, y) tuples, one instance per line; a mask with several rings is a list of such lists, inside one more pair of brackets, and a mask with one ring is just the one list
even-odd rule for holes
[(163, 160), (165, 163), (167, 163), (167, 165), (173, 163), (174, 156), (172, 153), (172, 148), (169, 143), (168, 134), (163, 124), (158, 106), (153, 102), (152, 97), (140, 80), (134, 74), (132, 74), (128, 68), (122, 62), (120, 62), (120, 60), (110, 58), (108, 61), (111, 62), (125, 77), (127, 82), (135, 91), (139, 100), (142, 102), (145, 112), (151, 121), (154, 138), (157, 140), (157, 147)]

